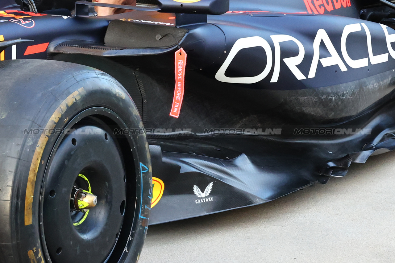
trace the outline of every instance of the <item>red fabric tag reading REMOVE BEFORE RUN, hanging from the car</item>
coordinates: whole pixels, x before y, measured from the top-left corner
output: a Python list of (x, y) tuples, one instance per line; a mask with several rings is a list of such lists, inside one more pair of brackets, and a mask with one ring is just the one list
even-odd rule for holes
[(184, 77), (185, 77), (186, 53), (184, 49), (175, 52), (175, 88), (173, 105), (171, 105), (170, 116), (178, 118), (180, 116), (182, 98), (184, 98)]

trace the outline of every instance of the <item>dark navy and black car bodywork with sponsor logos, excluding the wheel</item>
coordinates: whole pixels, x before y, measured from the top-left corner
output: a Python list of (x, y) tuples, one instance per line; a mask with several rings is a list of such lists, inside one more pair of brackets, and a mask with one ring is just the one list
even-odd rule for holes
[[(0, 40), (21, 39), (1, 60), (92, 66), (128, 90), (150, 144), (150, 224), (265, 203), (395, 148), (395, 12), (377, 2), (231, 0), (222, 15), (110, 17), (1, 5)], [(188, 57), (173, 118), (178, 43)]]

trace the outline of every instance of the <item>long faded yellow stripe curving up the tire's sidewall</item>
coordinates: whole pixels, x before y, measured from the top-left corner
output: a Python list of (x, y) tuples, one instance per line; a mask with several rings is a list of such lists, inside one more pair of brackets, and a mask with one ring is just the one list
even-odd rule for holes
[(86, 92), (84, 88), (79, 88), (79, 90), (76, 90), (70, 96), (68, 96), (66, 100), (62, 101), (62, 103), (60, 103), (59, 107), (56, 109), (56, 111), (49, 119), (47, 125), (45, 125), (45, 129), (47, 133), (41, 134), (40, 139), (38, 140), (36, 150), (34, 151), (33, 160), (30, 165), (29, 177), (26, 187), (25, 211), (24, 211), (25, 225), (31, 225), (33, 222), (32, 206), (33, 206), (34, 186), (36, 184), (37, 171), (38, 171), (38, 167), (40, 166), (41, 157), (43, 156), (43, 151), (45, 149), (45, 146), (47, 145), (49, 136), (51, 136), (51, 134), (48, 132), (48, 129), (55, 128), (56, 123), (58, 123), (59, 119), (66, 111), (67, 107), (73, 105), (75, 101), (79, 100), (85, 94)]

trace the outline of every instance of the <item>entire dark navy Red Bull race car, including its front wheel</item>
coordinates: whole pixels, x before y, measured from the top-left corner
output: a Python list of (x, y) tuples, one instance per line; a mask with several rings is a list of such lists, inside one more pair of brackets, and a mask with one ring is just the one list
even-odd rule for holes
[(389, 1), (0, 10), (2, 263), (135, 262), (148, 224), (265, 203), (395, 149)]

